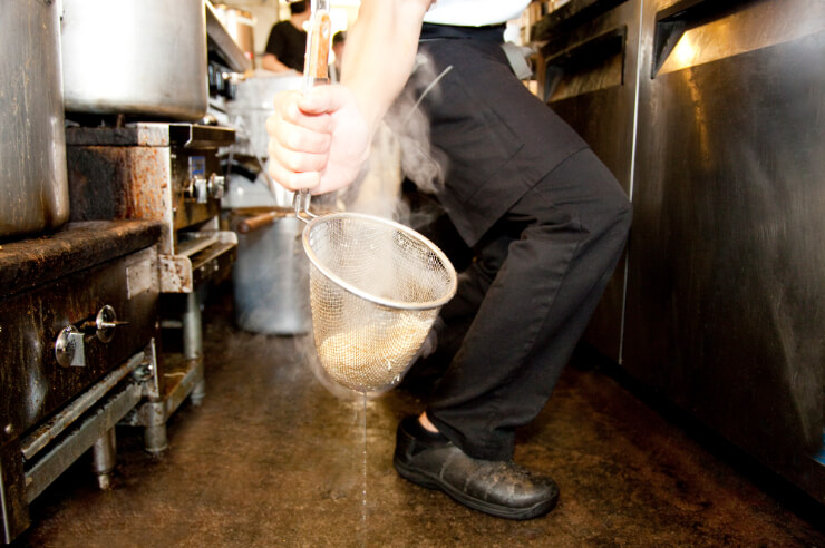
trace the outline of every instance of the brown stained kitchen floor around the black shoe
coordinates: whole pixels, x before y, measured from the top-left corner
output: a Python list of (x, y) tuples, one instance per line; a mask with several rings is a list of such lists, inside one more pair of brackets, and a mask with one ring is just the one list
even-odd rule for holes
[(518, 436), (516, 461), (560, 485), (549, 516), (492, 518), (399, 478), (395, 428), (420, 410), (401, 390), (367, 403), (365, 479), (363, 401), (317, 380), (304, 337), (234, 327), (222, 290), (204, 315), (207, 394), (171, 419), (169, 450), (152, 457), (138, 429), (119, 428), (114, 488), (97, 490), (80, 459), (30, 506), (16, 545), (825, 547), (798, 496), (734, 468), (589, 360)]

